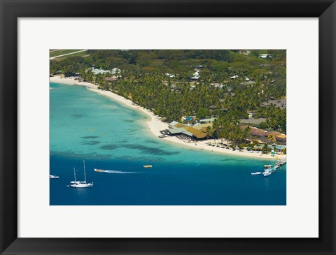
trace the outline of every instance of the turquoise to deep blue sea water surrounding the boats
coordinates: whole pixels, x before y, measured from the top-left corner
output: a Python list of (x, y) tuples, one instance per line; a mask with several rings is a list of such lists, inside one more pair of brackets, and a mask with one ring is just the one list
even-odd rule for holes
[[(85, 87), (50, 87), (50, 174), (60, 176), (50, 179), (50, 205), (286, 205), (286, 166), (251, 175), (274, 161), (163, 142), (142, 112)], [(73, 167), (83, 180), (83, 159), (94, 186), (66, 187)]]

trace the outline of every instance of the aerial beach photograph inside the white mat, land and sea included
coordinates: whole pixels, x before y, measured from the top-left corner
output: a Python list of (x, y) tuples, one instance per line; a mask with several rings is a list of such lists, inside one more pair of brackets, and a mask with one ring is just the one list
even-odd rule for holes
[(286, 50), (50, 50), (49, 92), (50, 205), (286, 205)]

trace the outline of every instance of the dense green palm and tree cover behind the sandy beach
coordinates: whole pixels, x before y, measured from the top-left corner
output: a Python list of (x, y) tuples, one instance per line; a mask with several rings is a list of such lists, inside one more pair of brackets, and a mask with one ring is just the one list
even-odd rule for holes
[[(79, 74), (131, 99), (168, 121), (216, 116), (209, 136), (243, 143), (239, 119), (250, 111), (267, 118), (263, 129), (286, 133), (286, 110), (262, 103), (286, 96), (286, 50), (89, 50), (89, 56), (50, 61), (50, 73)], [(265, 59), (260, 54), (270, 54)], [(90, 68), (111, 70), (94, 75)], [(193, 79), (195, 71), (199, 76)]]

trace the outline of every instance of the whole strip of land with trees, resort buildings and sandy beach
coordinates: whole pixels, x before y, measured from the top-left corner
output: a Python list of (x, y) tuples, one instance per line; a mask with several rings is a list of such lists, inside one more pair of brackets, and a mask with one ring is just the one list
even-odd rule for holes
[(78, 52), (58, 61), (53, 52), (50, 80), (143, 110), (162, 140), (243, 156), (286, 155), (286, 51)]

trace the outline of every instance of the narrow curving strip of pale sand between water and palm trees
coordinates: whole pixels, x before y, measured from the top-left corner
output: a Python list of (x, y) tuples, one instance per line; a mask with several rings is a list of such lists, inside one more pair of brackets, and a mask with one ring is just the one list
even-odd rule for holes
[[(114, 99), (120, 103), (123, 103), (124, 105), (127, 105), (130, 108), (141, 110), (141, 112), (144, 112), (146, 115), (151, 117), (151, 120), (147, 122), (147, 126), (150, 129), (151, 133), (156, 136), (159, 140), (163, 140), (163, 142), (172, 142), (174, 144), (182, 145), (193, 148), (193, 150), (207, 150), (208, 152), (216, 152), (221, 154), (229, 154), (234, 156), (249, 156), (257, 159), (274, 159), (275, 156), (271, 156), (270, 154), (262, 154), (261, 152), (239, 152), (239, 151), (233, 151), (233, 150), (226, 150), (221, 147), (212, 147), (207, 145), (212, 140), (202, 140), (197, 143), (186, 143), (183, 140), (180, 140), (179, 138), (176, 138), (174, 136), (167, 136), (165, 138), (159, 138), (158, 136), (161, 135), (160, 131), (163, 129), (168, 129), (168, 123), (161, 122), (160, 119), (155, 117), (153, 112), (151, 110), (148, 110), (146, 108), (143, 108), (139, 105), (135, 105), (130, 99), (125, 99), (123, 96), (119, 96), (118, 94), (114, 94), (113, 92), (98, 89), (97, 85), (93, 85), (90, 82), (79, 82), (79, 80), (74, 80), (72, 78), (62, 78), (61, 76), (53, 76), (49, 78), (50, 82), (55, 83), (61, 83), (65, 85), (77, 85), (82, 87), (87, 87), (88, 89), (92, 90), (92, 92), (96, 92), (98, 94), (102, 94), (104, 96), (108, 96), (111, 99)], [(279, 156), (279, 159), (286, 159), (286, 155), (276, 155)]]

